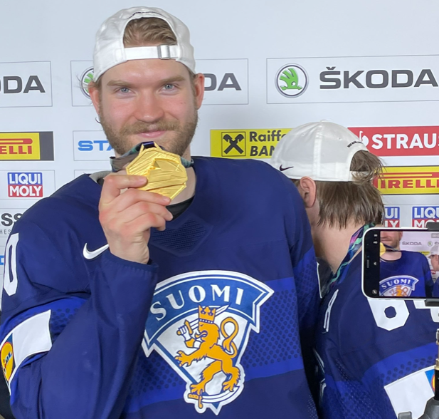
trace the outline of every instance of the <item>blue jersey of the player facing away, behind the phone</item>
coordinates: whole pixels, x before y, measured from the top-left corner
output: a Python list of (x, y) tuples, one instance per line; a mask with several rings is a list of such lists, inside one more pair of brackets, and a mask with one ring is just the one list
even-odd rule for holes
[(419, 418), (433, 397), (438, 321), (423, 300), (367, 299), (361, 252), (354, 257), (319, 310), (322, 418)]

